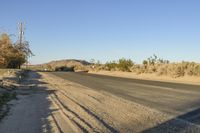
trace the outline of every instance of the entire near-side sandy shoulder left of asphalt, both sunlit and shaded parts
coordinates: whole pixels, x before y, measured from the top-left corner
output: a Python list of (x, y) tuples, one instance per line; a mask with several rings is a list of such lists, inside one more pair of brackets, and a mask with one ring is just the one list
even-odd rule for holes
[(200, 127), (48, 73), (30, 73), (0, 133), (200, 132)]

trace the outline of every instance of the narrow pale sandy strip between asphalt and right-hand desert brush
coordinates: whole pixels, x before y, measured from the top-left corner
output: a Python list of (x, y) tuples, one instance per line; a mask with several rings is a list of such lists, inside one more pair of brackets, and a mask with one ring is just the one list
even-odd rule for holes
[(184, 77), (179, 77), (179, 78), (171, 78), (169, 76), (157, 76), (156, 74), (135, 74), (135, 73), (131, 73), (131, 72), (119, 72), (119, 71), (89, 71), (89, 73), (108, 75), (108, 76), (116, 76), (116, 77), (124, 77), (124, 78), (134, 78), (134, 79), (144, 79), (144, 80), (155, 80), (155, 81), (200, 85), (200, 77), (195, 77), (195, 76), (184, 76)]

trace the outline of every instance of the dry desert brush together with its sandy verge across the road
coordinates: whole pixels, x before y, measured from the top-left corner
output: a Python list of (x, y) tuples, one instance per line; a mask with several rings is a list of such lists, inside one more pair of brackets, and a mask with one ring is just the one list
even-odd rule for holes
[(92, 64), (90, 73), (95, 74), (200, 84), (200, 64), (195, 62), (170, 63), (154, 55), (144, 60), (143, 64), (135, 64), (125, 58), (106, 64)]

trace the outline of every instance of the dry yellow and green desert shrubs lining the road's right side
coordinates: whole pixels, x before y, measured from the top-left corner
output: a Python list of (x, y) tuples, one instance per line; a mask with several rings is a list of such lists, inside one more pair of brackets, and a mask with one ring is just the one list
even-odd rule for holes
[(144, 60), (142, 64), (135, 64), (131, 59), (119, 59), (105, 64), (94, 63), (95, 71), (123, 71), (136, 74), (156, 74), (157, 76), (169, 76), (172, 78), (184, 76), (200, 76), (200, 64), (195, 62), (170, 63), (156, 55)]

